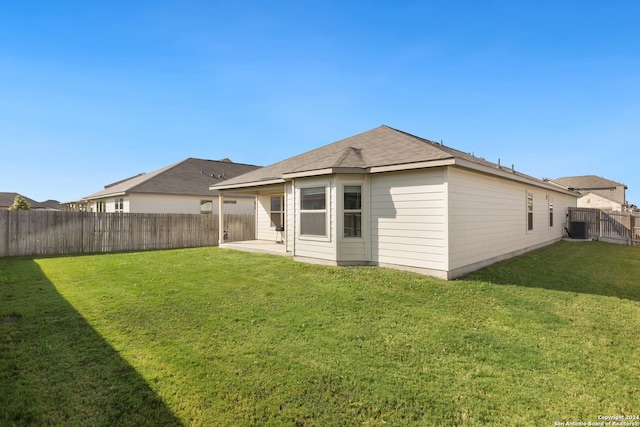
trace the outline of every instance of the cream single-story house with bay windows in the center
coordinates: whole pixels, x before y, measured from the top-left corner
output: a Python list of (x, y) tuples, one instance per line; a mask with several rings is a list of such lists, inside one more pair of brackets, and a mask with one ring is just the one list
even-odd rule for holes
[[(451, 279), (559, 241), (577, 194), (387, 126), (213, 185), (294, 259)], [(223, 209), (226, 205), (222, 205)]]

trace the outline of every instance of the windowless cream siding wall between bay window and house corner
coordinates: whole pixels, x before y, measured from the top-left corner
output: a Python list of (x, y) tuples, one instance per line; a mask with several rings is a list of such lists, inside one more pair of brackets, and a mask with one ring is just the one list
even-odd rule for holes
[(372, 261), (446, 270), (444, 168), (371, 176)]

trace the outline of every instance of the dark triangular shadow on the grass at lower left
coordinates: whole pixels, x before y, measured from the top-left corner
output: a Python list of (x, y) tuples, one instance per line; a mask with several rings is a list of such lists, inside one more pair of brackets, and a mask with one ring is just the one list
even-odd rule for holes
[(182, 425), (28, 258), (0, 259), (0, 425)]

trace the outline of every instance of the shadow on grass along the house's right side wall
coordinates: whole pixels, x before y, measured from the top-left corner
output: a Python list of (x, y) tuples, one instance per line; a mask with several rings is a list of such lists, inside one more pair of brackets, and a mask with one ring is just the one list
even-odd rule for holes
[(558, 242), (485, 267), (480, 280), (640, 301), (640, 248), (603, 242)]

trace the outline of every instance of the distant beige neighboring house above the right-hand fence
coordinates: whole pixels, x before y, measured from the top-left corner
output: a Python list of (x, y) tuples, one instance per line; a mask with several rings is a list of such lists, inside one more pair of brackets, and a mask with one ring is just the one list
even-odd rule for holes
[(595, 208), (623, 211), (628, 207), (625, 190), (627, 186), (619, 182), (595, 175), (568, 176), (557, 179), (545, 179), (567, 190), (580, 193), (579, 208)]

